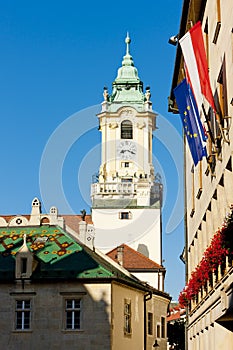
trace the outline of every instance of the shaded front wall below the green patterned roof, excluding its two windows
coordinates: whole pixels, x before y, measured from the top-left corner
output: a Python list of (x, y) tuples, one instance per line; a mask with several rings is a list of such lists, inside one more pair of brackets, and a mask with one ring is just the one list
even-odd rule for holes
[[(1, 349), (109, 350), (111, 285), (75, 282), (1, 284)], [(65, 330), (65, 299), (81, 298), (81, 330)], [(17, 331), (15, 301), (31, 300), (31, 328)]]

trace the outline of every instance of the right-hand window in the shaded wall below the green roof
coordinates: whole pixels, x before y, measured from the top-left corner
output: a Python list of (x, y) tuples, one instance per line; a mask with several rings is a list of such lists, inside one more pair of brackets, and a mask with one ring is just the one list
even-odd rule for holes
[(66, 325), (69, 330), (81, 329), (81, 299), (66, 299)]

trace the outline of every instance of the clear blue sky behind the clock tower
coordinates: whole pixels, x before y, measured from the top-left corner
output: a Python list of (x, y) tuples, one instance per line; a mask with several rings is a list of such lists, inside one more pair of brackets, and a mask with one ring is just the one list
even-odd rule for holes
[[(178, 32), (181, 7), (182, 0), (119, 0), (111, 6), (106, 1), (72, 0), (0, 3), (0, 213), (29, 213), (35, 196), (43, 200), (44, 210), (49, 203), (65, 213), (67, 206), (59, 191), (50, 191), (51, 179), (57, 179), (53, 167), (57, 159), (70, 211), (89, 211), (91, 174), (98, 171), (100, 162), (95, 111), (100, 108), (103, 87), (111, 90), (129, 31), (131, 55), (144, 87), (151, 88), (153, 108), (159, 114), (153, 153), (166, 195), (165, 287), (174, 299), (184, 286), (184, 266), (179, 259), (183, 249), (182, 147), (177, 137), (181, 135), (179, 116), (167, 112), (176, 52), (168, 39)], [(79, 122), (71, 123), (69, 136), (65, 121), (72, 121), (74, 114)], [(75, 140), (76, 131), (81, 136)], [(54, 136), (58, 136), (57, 144), (48, 155), (46, 144)], [(62, 149), (65, 143), (66, 150)], [(47, 163), (42, 155), (50, 157)]]

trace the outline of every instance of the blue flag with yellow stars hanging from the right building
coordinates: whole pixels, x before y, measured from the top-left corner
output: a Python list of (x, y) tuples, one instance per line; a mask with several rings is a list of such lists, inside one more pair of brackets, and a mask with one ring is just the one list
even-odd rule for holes
[(205, 146), (206, 136), (201, 123), (197, 104), (192, 89), (186, 79), (182, 80), (173, 92), (190, 152), (193, 157), (193, 162), (197, 165), (204, 156), (207, 156)]

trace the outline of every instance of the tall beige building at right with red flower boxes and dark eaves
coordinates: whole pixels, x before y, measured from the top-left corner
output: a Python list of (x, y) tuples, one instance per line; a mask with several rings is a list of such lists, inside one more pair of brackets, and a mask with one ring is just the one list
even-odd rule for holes
[[(194, 166), (187, 142), (185, 165), (187, 348), (230, 349), (233, 344), (233, 2), (185, 0), (176, 36), (201, 22), (216, 113), (204, 99), (201, 120), (207, 157)], [(178, 113), (173, 89), (184, 79), (177, 46), (169, 110)]]

